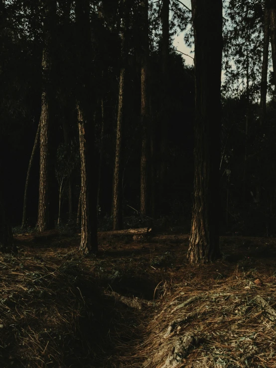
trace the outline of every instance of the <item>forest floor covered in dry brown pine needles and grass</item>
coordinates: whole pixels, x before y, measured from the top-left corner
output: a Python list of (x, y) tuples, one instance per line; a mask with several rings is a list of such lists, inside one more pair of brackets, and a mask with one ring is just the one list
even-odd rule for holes
[(14, 236), (0, 255), (0, 367), (276, 367), (276, 239), (221, 237), (187, 264), (187, 234)]

